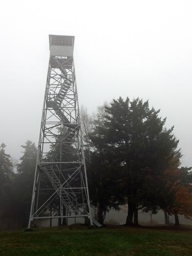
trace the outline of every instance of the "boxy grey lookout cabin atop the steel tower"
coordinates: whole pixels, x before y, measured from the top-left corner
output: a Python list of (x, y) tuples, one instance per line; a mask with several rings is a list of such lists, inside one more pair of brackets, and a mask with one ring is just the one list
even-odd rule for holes
[(51, 56), (73, 56), (74, 36), (49, 35), (49, 49)]

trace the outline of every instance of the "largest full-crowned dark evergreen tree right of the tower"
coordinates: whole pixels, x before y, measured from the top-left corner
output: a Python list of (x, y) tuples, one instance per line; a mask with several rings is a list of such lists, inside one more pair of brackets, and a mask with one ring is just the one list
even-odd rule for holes
[(158, 181), (178, 145), (173, 127), (166, 130), (165, 119), (158, 114), (159, 110), (149, 108), (148, 101), (120, 97), (105, 106), (103, 123), (96, 124), (91, 136), (97, 151), (123, 177), (121, 190), (129, 205), (129, 225), (138, 206), (153, 209), (158, 205)]

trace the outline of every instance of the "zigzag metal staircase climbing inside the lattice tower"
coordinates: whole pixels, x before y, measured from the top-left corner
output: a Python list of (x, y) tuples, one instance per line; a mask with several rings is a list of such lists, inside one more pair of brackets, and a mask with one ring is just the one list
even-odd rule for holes
[[(56, 97), (54, 98), (54, 100), (51, 100), (51, 99), (47, 100), (47, 107), (52, 108), (55, 111), (55, 114), (58, 116), (63, 126), (68, 127), (67, 133), (64, 135), (61, 135), (59, 138), (61, 143), (63, 141), (62, 149), (61, 149), (61, 156), (63, 156), (69, 150), (69, 147), (74, 140), (75, 132), (79, 128), (79, 124), (71, 123), (61, 109), (62, 101), (63, 99), (65, 99), (68, 91), (73, 86), (73, 81), (68, 79), (68, 73), (65, 70), (65, 68), (63, 68), (61, 63), (62, 59), (58, 59), (54, 57), (53, 60), (55, 62), (54, 64), (56, 65), (56, 67), (60, 69), (64, 82), (61, 84), (61, 88), (57, 93)], [(56, 149), (56, 152), (55, 152), (56, 154), (54, 155), (54, 159), (59, 162), (60, 161), (60, 143), (55, 146), (55, 149)], [(73, 193), (69, 193), (69, 190), (62, 187), (62, 184), (58, 179), (57, 175), (55, 174), (53, 168), (43, 167), (43, 169), (47, 174), (52, 186), (54, 187), (58, 197), (61, 198), (62, 204), (66, 207), (66, 209), (68, 209), (69, 214), (75, 215), (77, 211), (80, 211), (81, 214), (88, 214), (88, 212), (83, 212), (82, 206), (78, 204), (76, 196)], [(97, 227), (102, 226), (93, 217), (92, 217), (92, 220), (93, 220), (93, 224), (96, 225)]]

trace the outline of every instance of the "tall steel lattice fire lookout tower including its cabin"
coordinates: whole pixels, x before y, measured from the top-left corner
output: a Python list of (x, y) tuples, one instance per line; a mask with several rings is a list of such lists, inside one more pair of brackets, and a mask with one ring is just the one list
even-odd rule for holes
[[(49, 45), (28, 228), (33, 220), (45, 218), (88, 217), (92, 225), (73, 61), (74, 36), (49, 35)], [(57, 211), (50, 216), (53, 205)]]

